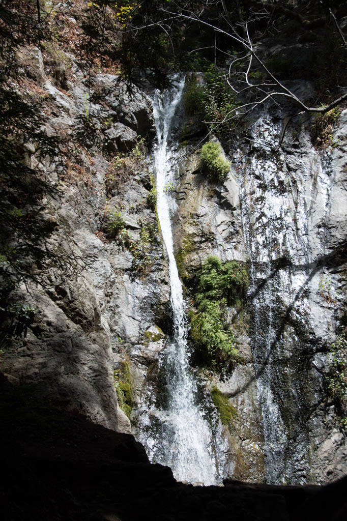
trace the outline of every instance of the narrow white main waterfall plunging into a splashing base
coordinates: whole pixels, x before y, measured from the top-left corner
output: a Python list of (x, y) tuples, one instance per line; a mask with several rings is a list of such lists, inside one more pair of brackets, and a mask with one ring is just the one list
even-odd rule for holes
[(175, 151), (169, 146), (170, 130), (180, 102), (184, 78), (175, 88), (156, 92), (154, 117), (157, 130), (155, 171), (157, 214), (169, 260), (170, 302), (173, 317), (173, 338), (168, 342), (161, 361), (166, 382), (166, 406), (150, 406), (142, 419), (139, 440), (152, 462), (171, 467), (177, 480), (214, 485), (221, 482), (214, 437), (197, 400), (197, 386), (189, 368), (187, 322), (182, 284), (179, 279), (170, 216), (175, 201), (167, 186), (173, 181)]

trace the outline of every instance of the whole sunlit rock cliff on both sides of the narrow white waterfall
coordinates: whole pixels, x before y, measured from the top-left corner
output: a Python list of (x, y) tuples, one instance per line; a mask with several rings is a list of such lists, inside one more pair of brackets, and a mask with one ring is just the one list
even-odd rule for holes
[[(84, 78), (72, 58), (67, 91), (46, 77), (39, 49), (22, 49), (19, 59), (43, 92), (47, 135), (66, 146), (62, 163), (24, 144), (26, 163), (59, 188), (60, 199), (44, 201), (55, 262), (29, 292), (22, 285), (14, 294), (35, 318), (7, 346), (4, 371), (48, 403), (129, 433), (119, 403), (129, 402), (134, 423), (145, 389), (153, 400), (163, 392), (160, 353), (172, 327), (148, 157), (151, 100), (115, 75)], [(184, 280), (209, 254), (250, 266), (242, 317), (229, 309), (242, 363), (224, 379), (198, 375), (221, 432), (225, 476), (324, 483), (347, 468), (345, 426), (327, 392), (329, 349), (345, 317), (347, 110), (333, 146), (316, 150), (309, 122), (298, 120), (274, 152), (284, 115), (247, 121), (224, 183), (204, 177), (193, 139), (177, 151), (174, 242)], [(130, 398), (119, 395), (122, 364)], [(221, 426), (214, 386), (236, 410), (232, 425)]]

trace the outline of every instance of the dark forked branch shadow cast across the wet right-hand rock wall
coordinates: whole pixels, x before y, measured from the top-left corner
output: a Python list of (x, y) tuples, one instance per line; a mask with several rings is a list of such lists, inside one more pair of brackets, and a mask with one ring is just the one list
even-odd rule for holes
[[(345, 262), (347, 262), (347, 241), (345, 241), (342, 244), (340, 244), (339, 246), (337, 246), (336, 249), (334, 249), (331, 253), (322, 255), (321, 257), (318, 257), (318, 259), (316, 259), (316, 261), (311, 262), (311, 263), (295, 265), (286, 259), (285, 263), (281, 263), (274, 270), (272, 270), (271, 273), (269, 274), (269, 276), (266, 279), (262, 280), (257, 285), (255, 290), (251, 292), (251, 294), (249, 295), (249, 301), (252, 302), (254, 300), (254, 298), (261, 292), (261, 290), (266, 286), (266, 284), (271, 279), (273, 279), (277, 275), (278, 271), (281, 269), (288, 269), (290, 267), (293, 271), (306, 270), (308, 272), (308, 276), (307, 276), (305, 282), (299, 288), (298, 292), (296, 292), (293, 302), (287, 307), (286, 314), (283, 316), (282, 320), (280, 321), (280, 324), (276, 331), (276, 336), (270, 344), (270, 349), (269, 349), (268, 354), (267, 354), (265, 360), (263, 361), (261, 367), (259, 367), (255, 371), (255, 375), (252, 378), (250, 378), (249, 381), (247, 381), (241, 388), (237, 389), (234, 392), (227, 393), (226, 395), (229, 398), (234, 398), (234, 396), (238, 396), (239, 394), (244, 392), (246, 389), (248, 389), (251, 386), (251, 384), (255, 380), (257, 380), (259, 378), (259, 376), (261, 376), (264, 373), (265, 368), (269, 363), (270, 356), (274, 352), (276, 345), (277, 345), (278, 341), (280, 340), (280, 337), (284, 331), (284, 328), (290, 321), (290, 315), (291, 315), (291, 312), (293, 311), (296, 301), (298, 301), (300, 299), (306, 286), (308, 285), (309, 282), (311, 282), (311, 280), (316, 275), (316, 273), (318, 271), (320, 271), (323, 267), (330, 267), (330, 269), (331, 269), (334, 267), (342, 266)], [(258, 264), (261, 264), (261, 263), (258, 263)], [(264, 266), (265, 265), (266, 265), (266, 263), (264, 263)]]

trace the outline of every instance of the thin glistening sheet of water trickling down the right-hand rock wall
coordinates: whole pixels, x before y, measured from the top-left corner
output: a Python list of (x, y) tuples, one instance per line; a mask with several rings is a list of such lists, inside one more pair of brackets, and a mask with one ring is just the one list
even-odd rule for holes
[[(279, 129), (270, 120), (260, 118), (253, 135), (255, 145), (251, 161), (244, 163), (240, 199), (251, 259), (250, 337), (263, 417), (266, 480), (305, 483), (307, 423), (312, 413), (308, 350), (322, 321), (310, 294), (317, 291), (321, 276), (314, 256), (324, 253), (310, 222), (310, 206), (320, 198), (328, 209), (331, 179), (314, 151), (295, 175), (289, 173), (283, 153), (271, 150)], [(265, 146), (256, 142), (258, 135)], [(239, 160), (243, 161), (241, 156)], [(316, 180), (312, 170), (318, 172)]]

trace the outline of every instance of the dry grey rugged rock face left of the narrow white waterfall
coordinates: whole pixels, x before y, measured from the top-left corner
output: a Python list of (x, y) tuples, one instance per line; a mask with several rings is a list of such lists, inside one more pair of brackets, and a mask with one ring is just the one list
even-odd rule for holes
[[(54, 230), (46, 247), (57, 262), (38, 272), (41, 285), (31, 284), (29, 293), (22, 286), (14, 295), (14, 304), (30, 306), (35, 318), (26, 335), (7, 346), (4, 370), (11, 381), (36, 386), (49, 403), (130, 432), (130, 421), (117, 403), (114, 369), (128, 357), (127, 346), (139, 344), (155, 321), (166, 320), (166, 264), (155, 239), (146, 272), (137, 273), (130, 251), (119, 241), (109, 242), (102, 230), (107, 231), (110, 195), (110, 207), (122, 212), (125, 230), (139, 232), (139, 219), (155, 225), (146, 206), (151, 189), (147, 166), (138, 157), (125, 166), (122, 156), (114, 155), (151, 139), (151, 101), (134, 85), (129, 92), (114, 75), (96, 76), (90, 90), (75, 59), (73, 82), (65, 92), (45, 77), (39, 49), (24, 48), (18, 57), (46, 97), (51, 114), (47, 135), (67, 140), (67, 146), (63, 160), (50, 157), (39, 164), (42, 176), (59, 189), (60, 200), (48, 196), (44, 209)], [(90, 95), (102, 96), (102, 105), (89, 102)], [(113, 155), (103, 156), (103, 146)], [(26, 161), (30, 166), (39, 161), (30, 143)]]

